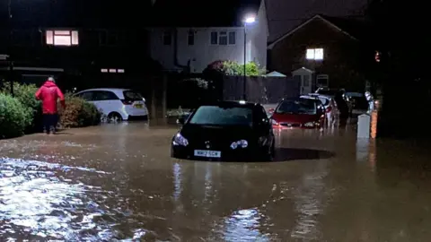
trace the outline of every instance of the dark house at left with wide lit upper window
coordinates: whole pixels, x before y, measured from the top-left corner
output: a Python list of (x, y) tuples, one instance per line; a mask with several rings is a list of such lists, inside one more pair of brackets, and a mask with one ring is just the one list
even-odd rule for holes
[[(55, 75), (66, 89), (142, 75), (151, 62), (136, 15), (118, 14), (127, 9), (116, 1), (75, 2), (12, 1), (12, 31), (0, 25), (0, 54), (12, 57), (13, 80), (39, 84)], [(9, 79), (7, 68), (1, 64), (0, 80)]]

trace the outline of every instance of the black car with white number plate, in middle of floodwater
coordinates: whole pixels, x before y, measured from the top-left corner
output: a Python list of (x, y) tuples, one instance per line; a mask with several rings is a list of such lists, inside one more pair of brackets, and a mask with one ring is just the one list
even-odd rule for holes
[(190, 160), (272, 160), (275, 136), (265, 108), (245, 101), (201, 105), (172, 138), (171, 156)]

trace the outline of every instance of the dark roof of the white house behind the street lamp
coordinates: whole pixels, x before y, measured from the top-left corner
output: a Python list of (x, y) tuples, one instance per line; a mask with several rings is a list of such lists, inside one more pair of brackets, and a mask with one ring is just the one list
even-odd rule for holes
[(260, 0), (157, 0), (151, 26), (238, 27), (246, 14), (258, 13), (259, 5)]

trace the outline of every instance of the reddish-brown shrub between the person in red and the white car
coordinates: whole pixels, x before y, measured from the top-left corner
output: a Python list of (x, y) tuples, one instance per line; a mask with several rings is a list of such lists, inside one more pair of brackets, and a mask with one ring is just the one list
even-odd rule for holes
[(63, 127), (84, 127), (99, 125), (101, 112), (84, 99), (66, 94), (66, 109), (60, 112), (60, 125)]

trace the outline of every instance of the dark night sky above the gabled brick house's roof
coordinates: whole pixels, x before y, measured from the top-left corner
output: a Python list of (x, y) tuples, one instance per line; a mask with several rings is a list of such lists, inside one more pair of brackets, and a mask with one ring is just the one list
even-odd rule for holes
[(362, 14), (367, 0), (267, 0), (269, 41), (292, 30), (317, 13), (346, 16)]

